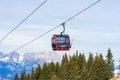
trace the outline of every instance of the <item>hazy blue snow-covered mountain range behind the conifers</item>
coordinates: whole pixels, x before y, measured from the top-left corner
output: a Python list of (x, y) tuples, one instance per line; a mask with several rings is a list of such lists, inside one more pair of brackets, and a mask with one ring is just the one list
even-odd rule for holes
[(20, 56), (17, 52), (4, 54), (0, 52), (0, 80), (13, 80), (16, 73), (20, 74), (23, 70), (29, 73), (32, 67), (36, 68), (45, 62), (60, 61), (62, 55), (55, 53), (26, 53)]

